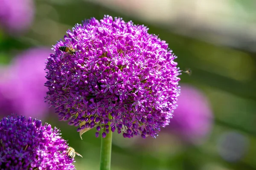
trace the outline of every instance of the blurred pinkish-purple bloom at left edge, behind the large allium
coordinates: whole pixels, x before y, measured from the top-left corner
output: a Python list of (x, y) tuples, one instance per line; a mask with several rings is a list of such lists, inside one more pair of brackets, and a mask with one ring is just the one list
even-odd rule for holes
[[(49, 104), (44, 102), (47, 88), (44, 86), (45, 62), (50, 54), (47, 48), (33, 48), (15, 57), (0, 78), (1, 114), (17, 113), (44, 119), (49, 112)], [(7, 103), (4, 104), (4, 103)]]

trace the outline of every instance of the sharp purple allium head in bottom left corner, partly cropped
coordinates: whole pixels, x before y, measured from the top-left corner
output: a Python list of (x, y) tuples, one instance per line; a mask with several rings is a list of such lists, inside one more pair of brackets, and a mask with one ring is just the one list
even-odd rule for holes
[(60, 130), (41, 120), (7, 116), (0, 120), (0, 169), (75, 170)]

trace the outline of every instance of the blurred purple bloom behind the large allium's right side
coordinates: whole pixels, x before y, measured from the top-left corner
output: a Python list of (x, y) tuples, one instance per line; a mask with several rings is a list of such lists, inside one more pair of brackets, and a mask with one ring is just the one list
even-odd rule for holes
[(193, 86), (183, 84), (177, 105), (167, 129), (187, 142), (200, 144), (212, 127), (213, 115), (206, 96)]

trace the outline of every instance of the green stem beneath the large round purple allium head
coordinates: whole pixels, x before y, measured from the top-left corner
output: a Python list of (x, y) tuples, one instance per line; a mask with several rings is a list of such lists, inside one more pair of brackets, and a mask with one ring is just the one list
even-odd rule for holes
[(112, 131), (102, 138), (100, 149), (100, 170), (110, 170), (111, 163)]

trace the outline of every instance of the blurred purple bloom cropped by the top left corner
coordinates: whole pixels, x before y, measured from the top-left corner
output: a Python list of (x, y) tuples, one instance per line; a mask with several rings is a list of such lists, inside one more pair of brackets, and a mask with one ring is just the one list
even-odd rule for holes
[(9, 33), (25, 31), (34, 19), (33, 0), (0, 0), (0, 27)]

